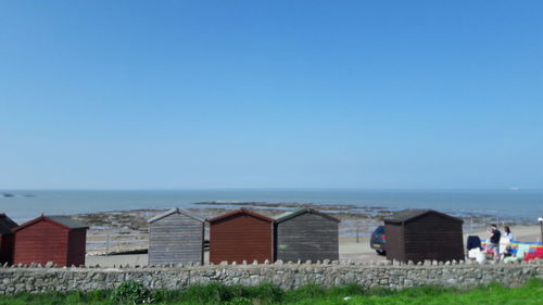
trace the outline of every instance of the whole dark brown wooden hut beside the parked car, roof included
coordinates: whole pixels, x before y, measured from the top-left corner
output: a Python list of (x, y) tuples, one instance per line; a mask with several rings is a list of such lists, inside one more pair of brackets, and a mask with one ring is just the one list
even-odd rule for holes
[(399, 262), (464, 259), (459, 218), (433, 209), (404, 209), (384, 219), (387, 259)]

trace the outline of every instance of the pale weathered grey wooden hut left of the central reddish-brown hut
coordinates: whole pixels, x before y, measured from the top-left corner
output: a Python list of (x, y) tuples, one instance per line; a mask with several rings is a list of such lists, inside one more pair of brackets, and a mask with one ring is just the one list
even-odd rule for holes
[(149, 265), (203, 264), (205, 219), (173, 208), (149, 221)]

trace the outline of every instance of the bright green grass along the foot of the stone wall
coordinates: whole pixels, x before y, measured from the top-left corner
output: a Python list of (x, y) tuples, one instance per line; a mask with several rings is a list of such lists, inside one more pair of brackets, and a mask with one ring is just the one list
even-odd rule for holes
[[(89, 293), (22, 293), (0, 296), (5, 305), (79, 305), (119, 304), (112, 301), (111, 291)], [(345, 296), (351, 300), (344, 301)], [(272, 284), (248, 288), (222, 284), (194, 285), (182, 291), (153, 291), (153, 304), (163, 305), (363, 305), (363, 304), (543, 304), (543, 281), (533, 279), (519, 289), (503, 288), (498, 284), (458, 291), (443, 288), (412, 288), (402, 291), (384, 289), (362, 290), (357, 285), (344, 285), (325, 290), (318, 285), (306, 285), (292, 291), (282, 291)], [(131, 304), (131, 303), (127, 303)]]

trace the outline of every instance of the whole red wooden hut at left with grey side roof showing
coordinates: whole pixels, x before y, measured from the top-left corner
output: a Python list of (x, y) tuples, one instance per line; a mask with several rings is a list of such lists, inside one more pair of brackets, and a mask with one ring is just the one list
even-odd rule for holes
[(85, 265), (88, 227), (67, 216), (43, 216), (14, 229), (13, 264)]

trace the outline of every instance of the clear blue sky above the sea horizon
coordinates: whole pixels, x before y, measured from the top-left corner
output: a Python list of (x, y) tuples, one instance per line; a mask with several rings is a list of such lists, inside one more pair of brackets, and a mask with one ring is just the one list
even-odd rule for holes
[(542, 14), (1, 1), (0, 189), (541, 189)]

